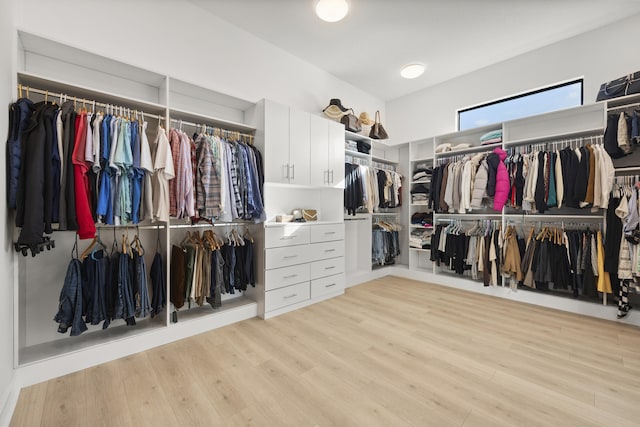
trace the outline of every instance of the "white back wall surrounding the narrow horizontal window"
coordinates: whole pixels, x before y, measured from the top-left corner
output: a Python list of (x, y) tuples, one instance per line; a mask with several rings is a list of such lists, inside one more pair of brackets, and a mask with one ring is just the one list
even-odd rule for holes
[(602, 82), (640, 69), (631, 47), (639, 20), (637, 14), (390, 101), (385, 128), (394, 143), (453, 132), (460, 108), (582, 76), (584, 102), (593, 103)]

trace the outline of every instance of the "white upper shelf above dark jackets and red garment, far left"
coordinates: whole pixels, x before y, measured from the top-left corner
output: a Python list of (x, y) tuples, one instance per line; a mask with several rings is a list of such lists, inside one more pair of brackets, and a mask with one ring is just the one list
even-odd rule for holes
[[(98, 101), (105, 104), (113, 104), (115, 106), (141, 110), (145, 113), (153, 113), (163, 117), (166, 114), (166, 107), (161, 104), (118, 95), (115, 93), (104, 92), (99, 89), (80, 86), (61, 80), (53, 80), (28, 72), (18, 72), (18, 83), (22, 84), (23, 86), (33, 87), (36, 89), (67, 94), (68, 100), (74, 100), (74, 98), (77, 98), (77, 102), (80, 104), (82, 104), (83, 101), (87, 101), (88, 108), (91, 107), (90, 101)], [(26, 88), (24, 87), (23, 93), (26, 93)], [(56, 99), (52, 97), (52, 100)], [(59, 102), (59, 99), (57, 101)]]

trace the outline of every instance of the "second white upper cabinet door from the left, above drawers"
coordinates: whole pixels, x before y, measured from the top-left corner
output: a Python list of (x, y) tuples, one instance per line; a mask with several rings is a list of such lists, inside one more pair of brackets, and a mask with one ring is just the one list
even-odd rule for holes
[(309, 113), (291, 109), (289, 111), (289, 160), (291, 184), (309, 185), (309, 163), (311, 146)]

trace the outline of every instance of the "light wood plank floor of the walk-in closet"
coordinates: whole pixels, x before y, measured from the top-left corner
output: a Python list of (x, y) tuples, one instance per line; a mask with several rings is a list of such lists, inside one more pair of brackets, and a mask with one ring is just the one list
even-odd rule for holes
[(29, 387), (12, 420), (639, 424), (640, 329), (400, 278)]

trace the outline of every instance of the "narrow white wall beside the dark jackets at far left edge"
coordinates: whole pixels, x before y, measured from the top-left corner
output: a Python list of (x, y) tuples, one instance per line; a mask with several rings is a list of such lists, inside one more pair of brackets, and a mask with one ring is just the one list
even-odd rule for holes
[[(12, 101), (15, 91), (13, 88), (15, 77), (13, 76), (12, 58), (15, 57), (15, 29), (13, 26), (12, 0), (0, 0), (0, 52), (3, 52), (3, 60), (0, 61), (0, 135), (6, 141), (8, 114), (7, 106)], [(6, 173), (5, 150), (0, 155), (0, 176)], [(11, 247), (12, 230), (8, 218), (5, 180), (0, 184), (0, 424), (2, 424), (4, 406), (7, 403), (13, 380), (13, 251)]]

